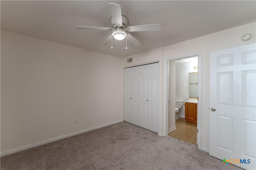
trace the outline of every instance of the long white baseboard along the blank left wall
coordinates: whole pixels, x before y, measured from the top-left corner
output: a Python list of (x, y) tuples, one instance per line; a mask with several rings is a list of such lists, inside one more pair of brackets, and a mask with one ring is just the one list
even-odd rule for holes
[(69, 134), (66, 134), (66, 135), (54, 137), (54, 138), (51, 138), (51, 139), (46, 139), (44, 141), (40, 141), (40, 142), (33, 143), (33, 144), (30, 144), (30, 145), (26, 145), (26, 146), (23, 146), (23, 147), (6, 150), (4, 152), (1, 152), (0, 156), (6, 156), (8, 154), (13, 154), (13, 153), (16, 153), (16, 152), (20, 152), (22, 150), (38, 147), (38, 146), (44, 145), (46, 143), (58, 141), (60, 139), (64, 139), (64, 138), (71, 137), (71, 136), (74, 136), (74, 135), (79, 135), (81, 133), (85, 133), (85, 132), (92, 131), (92, 130), (95, 130), (95, 129), (99, 129), (99, 128), (102, 128), (102, 127), (105, 127), (105, 126), (113, 125), (113, 124), (116, 124), (116, 123), (119, 123), (119, 122), (122, 122), (122, 121), (124, 121), (124, 120), (122, 119), (122, 120), (118, 120), (118, 121), (112, 121), (110, 123), (106, 123), (106, 124), (103, 124), (103, 125), (98, 125), (98, 126), (95, 126), (95, 127), (90, 127), (88, 129), (84, 129), (84, 130), (81, 130), (81, 131), (77, 131), (77, 132), (69, 133)]

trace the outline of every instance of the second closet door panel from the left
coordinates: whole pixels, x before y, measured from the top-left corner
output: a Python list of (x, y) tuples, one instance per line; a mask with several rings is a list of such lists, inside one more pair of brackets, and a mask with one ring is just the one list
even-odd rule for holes
[(131, 123), (139, 125), (139, 67), (131, 68)]

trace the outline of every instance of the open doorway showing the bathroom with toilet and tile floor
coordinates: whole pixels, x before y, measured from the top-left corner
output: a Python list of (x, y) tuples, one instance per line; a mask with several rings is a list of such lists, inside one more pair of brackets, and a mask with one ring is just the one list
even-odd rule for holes
[(199, 55), (178, 57), (167, 63), (167, 133), (198, 148), (201, 145)]

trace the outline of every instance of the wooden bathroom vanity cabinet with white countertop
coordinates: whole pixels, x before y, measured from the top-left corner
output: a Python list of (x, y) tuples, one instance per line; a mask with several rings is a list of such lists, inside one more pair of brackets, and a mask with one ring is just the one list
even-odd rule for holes
[(185, 119), (191, 123), (197, 123), (197, 101), (188, 100), (185, 102)]

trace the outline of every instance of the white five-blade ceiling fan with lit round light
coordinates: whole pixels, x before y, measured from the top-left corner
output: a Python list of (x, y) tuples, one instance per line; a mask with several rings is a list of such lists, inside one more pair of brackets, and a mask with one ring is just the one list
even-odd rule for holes
[[(114, 39), (122, 40), (126, 38), (126, 40), (130, 41), (132, 44), (139, 46), (141, 42), (134, 38), (132, 35), (127, 33), (134, 31), (159, 31), (161, 29), (160, 24), (150, 24), (150, 25), (135, 25), (128, 26), (128, 19), (125, 16), (122, 16), (121, 7), (118, 4), (109, 3), (110, 12), (112, 18), (110, 19), (112, 23), (112, 28), (108, 27), (84, 27), (84, 26), (76, 26), (76, 29), (94, 29), (94, 30), (103, 30), (109, 31), (112, 30), (112, 34), (102, 42), (102, 45), (107, 45), (110, 40), (114, 37)], [(126, 41), (127, 44), (127, 41)], [(127, 47), (126, 47), (127, 48)]]

